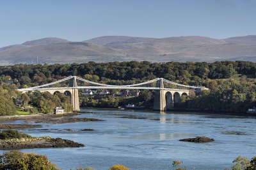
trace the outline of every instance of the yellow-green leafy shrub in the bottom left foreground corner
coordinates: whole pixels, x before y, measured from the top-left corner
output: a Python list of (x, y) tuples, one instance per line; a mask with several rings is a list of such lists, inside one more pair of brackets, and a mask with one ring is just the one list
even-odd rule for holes
[(58, 169), (44, 155), (36, 153), (22, 153), (21, 151), (9, 151), (0, 155), (0, 169)]

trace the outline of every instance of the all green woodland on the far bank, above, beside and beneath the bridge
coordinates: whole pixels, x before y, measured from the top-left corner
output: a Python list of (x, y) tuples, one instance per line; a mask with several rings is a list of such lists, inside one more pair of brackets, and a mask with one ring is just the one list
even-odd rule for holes
[[(237, 79), (230, 77), (239, 74)], [(15, 89), (37, 86), (48, 82), (57, 81), (77, 75), (89, 81), (106, 84), (125, 85), (144, 82), (156, 77), (163, 77), (180, 84), (191, 86), (205, 86), (210, 91), (204, 91), (200, 95), (181, 97), (177, 108), (199, 109), (202, 111), (217, 112), (245, 112), (255, 103), (256, 91), (256, 63), (250, 61), (216, 61), (206, 62), (168, 62), (150, 63), (148, 61), (124, 61), (109, 63), (73, 63), (54, 65), (13, 65), (0, 66), (0, 95), (3, 96), (0, 109), (3, 115), (15, 112), (12, 102), (15, 97), (21, 97)], [(8, 82), (13, 81), (12, 84)], [(29, 97), (29, 98), (28, 98)], [(70, 111), (68, 99), (60, 95), (46, 93), (30, 93), (23, 97), (29, 104), (36, 107), (33, 112), (51, 112), (52, 107), (62, 106)], [(62, 99), (61, 99), (62, 98)], [(65, 103), (61, 105), (61, 103)], [(154, 91), (141, 91), (132, 101), (138, 105), (152, 105)], [(83, 98), (82, 106), (116, 107), (116, 105), (131, 103), (131, 100), (120, 98)], [(24, 103), (24, 105), (28, 105)], [(10, 106), (11, 105), (11, 106)], [(3, 109), (5, 108), (5, 109)]]

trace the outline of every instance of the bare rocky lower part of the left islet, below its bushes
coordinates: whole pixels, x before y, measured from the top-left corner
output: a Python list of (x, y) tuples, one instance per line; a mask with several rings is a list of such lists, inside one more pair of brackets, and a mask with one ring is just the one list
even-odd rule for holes
[(68, 139), (36, 137), (31, 139), (9, 139), (0, 141), (0, 150), (21, 150), (31, 148), (77, 148), (84, 144)]

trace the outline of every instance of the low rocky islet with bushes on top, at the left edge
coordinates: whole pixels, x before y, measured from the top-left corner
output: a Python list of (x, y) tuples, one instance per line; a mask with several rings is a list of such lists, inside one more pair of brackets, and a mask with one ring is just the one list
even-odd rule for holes
[(84, 144), (68, 139), (52, 137), (32, 137), (19, 133), (17, 130), (3, 130), (0, 132), (0, 150), (19, 150), (32, 148), (76, 148)]

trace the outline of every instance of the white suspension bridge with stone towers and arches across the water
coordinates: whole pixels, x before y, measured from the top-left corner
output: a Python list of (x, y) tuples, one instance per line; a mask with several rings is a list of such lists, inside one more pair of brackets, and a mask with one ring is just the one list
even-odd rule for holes
[(65, 79), (41, 86), (18, 90), (22, 91), (22, 93), (36, 90), (41, 92), (48, 91), (51, 94), (56, 92), (65, 93), (71, 97), (71, 104), (74, 107), (74, 111), (79, 111), (78, 89), (152, 89), (155, 91), (154, 110), (165, 111), (166, 109), (172, 109), (173, 104), (179, 102), (182, 95), (189, 95), (189, 89), (201, 89), (201, 87), (179, 84), (163, 78), (157, 78), (139, 84), (116, 86), (88, 81), (77, 76), (69, 76)]

